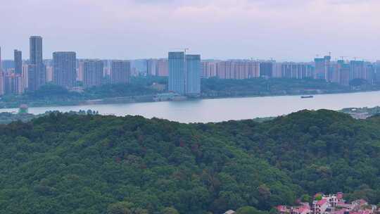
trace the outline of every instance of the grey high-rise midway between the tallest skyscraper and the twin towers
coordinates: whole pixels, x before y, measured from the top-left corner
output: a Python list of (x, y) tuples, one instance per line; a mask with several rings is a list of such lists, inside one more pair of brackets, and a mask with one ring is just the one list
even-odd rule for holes
[(96, 87), (100, 86), (103, 79), (103, 61), (86, 60), (83, 61), (83, 86)]

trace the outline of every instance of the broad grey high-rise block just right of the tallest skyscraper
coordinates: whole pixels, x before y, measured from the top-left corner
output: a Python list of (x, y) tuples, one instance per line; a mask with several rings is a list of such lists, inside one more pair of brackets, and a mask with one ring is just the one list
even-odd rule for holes
[(53, 53), (53, 83), (62, 87), (75, 86), (77, 77), (77, 55), (75, 52)]

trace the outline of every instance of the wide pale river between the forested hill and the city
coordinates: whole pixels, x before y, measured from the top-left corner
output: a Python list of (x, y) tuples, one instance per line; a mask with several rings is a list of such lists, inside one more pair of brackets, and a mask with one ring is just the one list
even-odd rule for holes
[[(156, 103), (125, 103), (88, 106), (54, 106), (29, 108), (30, 113), (46, 111), (99, 111), (102, 115), (142, 115), (145, 118), (164, 118), (178, 122), (221, 122), (286, 115), (303, 109), (340, 110), (349, 107), (380, 106), (380, 92), (322, 94), (312, 99), (300, 96), (266, 96), (227, 99), (199, 99)], [(0, 109), (15, 112), (16, 108)]]

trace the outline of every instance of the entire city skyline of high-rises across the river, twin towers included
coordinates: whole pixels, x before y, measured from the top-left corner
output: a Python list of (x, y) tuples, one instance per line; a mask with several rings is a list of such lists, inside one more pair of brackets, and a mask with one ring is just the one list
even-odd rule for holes
[(127, 84), (131, 76), (168, 77), (167, 91), (180, 95), (201, 93), (201, 78), (226, 80), (251, 78), (315, 79), (350, 85), (353, 80), (380, 83), (380, 61), (331, 61), (331, 56), (317, 57), (312, 62), (277, 62), (274, 60), (201, 60), (200, 55), (186, 51), (170, 52), (167, 58), (132, 61), (77, 58), (73, 51), (57, 51), (52, 59), (42, 58), (42, 37), (30, 37), (30, 58), (14, 51), (13, 61), (1, 61), (0, 96), (33, 92), (46, 83), (70, 90), (97, 87), (102, 84)]

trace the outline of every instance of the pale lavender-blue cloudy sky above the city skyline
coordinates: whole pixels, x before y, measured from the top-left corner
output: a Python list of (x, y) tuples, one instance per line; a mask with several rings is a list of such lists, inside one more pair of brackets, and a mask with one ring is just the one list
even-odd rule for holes
[(380, 59), (379, 0), (0, 0), (2, 57), (163, 58), (189, 48), (202, 58), (312, 61), (331, 52)]

